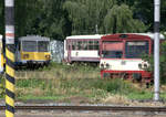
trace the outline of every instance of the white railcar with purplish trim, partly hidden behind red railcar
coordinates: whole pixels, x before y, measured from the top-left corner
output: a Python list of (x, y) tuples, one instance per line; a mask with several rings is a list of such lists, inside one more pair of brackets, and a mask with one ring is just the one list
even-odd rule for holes
[(72, 35), (64, 41), (64, 61), (100, 62), (100, 40), (102, 35)]

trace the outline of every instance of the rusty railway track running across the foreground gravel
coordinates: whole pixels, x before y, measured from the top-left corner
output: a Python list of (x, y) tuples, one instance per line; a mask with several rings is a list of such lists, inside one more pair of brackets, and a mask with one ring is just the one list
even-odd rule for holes
[[(0, 106), (4, 110), (6, 106)], [(165, 111), (166, 107), (121, 107), (121, 106), (15, 106), (15, 110), (114, 110), (114, 111)]]

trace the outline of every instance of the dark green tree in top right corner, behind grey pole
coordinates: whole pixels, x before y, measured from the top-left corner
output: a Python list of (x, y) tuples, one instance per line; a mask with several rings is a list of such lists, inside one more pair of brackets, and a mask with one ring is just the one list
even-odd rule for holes
[[(154, 0), (135, 0), (133, 12), (136, 19), (141, 19), (146, 25), (147, 31), (154, 29)], [(166, 0), (160, 0), (160, 31), (166, 30)]]

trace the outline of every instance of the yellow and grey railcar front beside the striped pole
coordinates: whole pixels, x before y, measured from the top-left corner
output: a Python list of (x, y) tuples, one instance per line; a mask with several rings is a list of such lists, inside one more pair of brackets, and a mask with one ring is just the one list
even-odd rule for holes
[(46, 65), (50, 63), (50, 39), (44, 36), (22, 36), (15, 51), (17, 65)]

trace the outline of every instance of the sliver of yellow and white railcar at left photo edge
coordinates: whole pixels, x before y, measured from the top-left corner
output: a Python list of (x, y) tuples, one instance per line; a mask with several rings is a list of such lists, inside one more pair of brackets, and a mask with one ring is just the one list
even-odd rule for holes
[(2, 35), (0, 35), (0, 73), (3, 72), (3, 46), (2, 46)]

